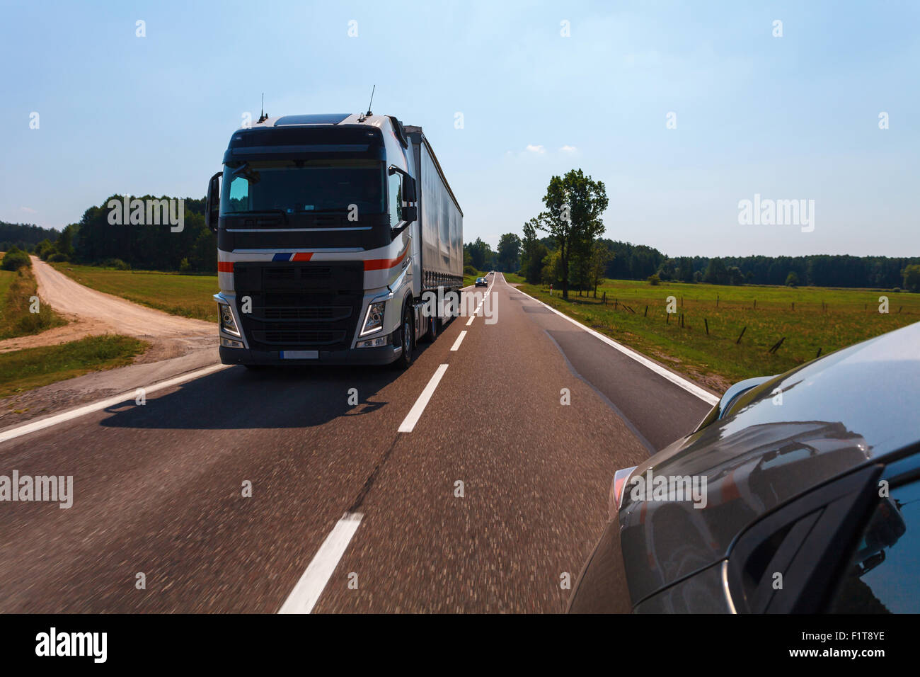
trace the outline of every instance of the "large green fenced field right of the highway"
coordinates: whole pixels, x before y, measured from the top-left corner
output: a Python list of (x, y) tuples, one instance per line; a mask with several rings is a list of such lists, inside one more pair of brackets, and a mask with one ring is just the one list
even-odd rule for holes
[[(558, 289), (553, 297), (541, 286), (521, 289), (717, 391), (920, 321), (920, 294), (886, 290), (606, 280), (597, 298), (570, 291), (566, 302)], [(887, 314), (879, 311), (881, 296), (889, 299)], [(675, 299), (670, 315), (668, 297)]]

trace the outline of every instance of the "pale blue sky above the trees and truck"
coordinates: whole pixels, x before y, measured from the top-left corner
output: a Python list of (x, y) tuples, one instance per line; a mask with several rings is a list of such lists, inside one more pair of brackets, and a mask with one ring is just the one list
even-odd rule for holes
[[(581, 168), (607, 237), (673, 256), (920, 254), (916, 4), (0, 6), (0, 220), (201, 196), (261, 92), (271, 115), (357, 112), (376, 85), (374, 112), (428, 134), (466, 241), (520, 234)], [(814, 200), (813, 232), (739, 225), (755, 193)]]

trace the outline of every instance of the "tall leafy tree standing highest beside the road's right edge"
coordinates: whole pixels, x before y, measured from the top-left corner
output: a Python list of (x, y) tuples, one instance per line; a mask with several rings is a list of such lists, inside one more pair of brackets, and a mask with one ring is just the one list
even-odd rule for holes
[(559, 252), (562, 298), (569, 298), (569, 258), (573, 249), (592, 242), (604, 233), (601, 215), (607, 208), (603, 181), (592, 181), (581, 169), (570, 169), (564, 177), (554, 176), (543, 197), (546, 211), (539, 228), (554, 239)]

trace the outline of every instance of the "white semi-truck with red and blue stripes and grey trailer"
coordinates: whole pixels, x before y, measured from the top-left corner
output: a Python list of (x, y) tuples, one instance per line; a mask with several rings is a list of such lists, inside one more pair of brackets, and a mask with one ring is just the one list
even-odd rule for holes
[(263, 113), (231, 135), (205, 220), (224, 364), (407, 368), (459, 308), (463, 212), (394, 116)]

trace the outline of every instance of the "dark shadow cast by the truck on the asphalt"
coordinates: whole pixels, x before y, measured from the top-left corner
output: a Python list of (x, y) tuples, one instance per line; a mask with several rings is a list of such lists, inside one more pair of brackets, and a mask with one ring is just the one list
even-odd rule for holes
[(378, 393), (402, 373), (386, 367), (231, 367), (166, 395), (153, 393), (143, 405), (125, 400), (111, 406), (105, 410), (111, 415), (100, 425), (192, 430), (321, 426), (385, 407), (388, 402)]

